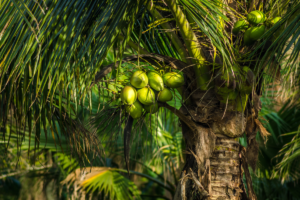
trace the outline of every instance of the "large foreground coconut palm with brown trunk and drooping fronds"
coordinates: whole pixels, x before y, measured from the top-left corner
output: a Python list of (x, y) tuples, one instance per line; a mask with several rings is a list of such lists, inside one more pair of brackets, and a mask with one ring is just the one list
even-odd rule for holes
[[(184, 76), (173, 90), (179, 108), (159, 103), (180, 119), (188, 152), (174, 199), (247, 199), (242, 171), (249, 199), (256, 199), (248, 164), (255, 168), (257, 130), (268, 134), (258, 120), (259, 96), (281, 72), (287, 77), (296, 69), (298, 0), (4, 0), (0, 8), (3, 136), (14, 125), (20, 143), (26, 130), (39, 147), (42, 129), (58, 141), (61, 132), (82, 158), (101, 155), (97, 131), (124, 128), (129, 167), (133, 133), (149, 114), (133, 120), (123, 112), (126, 76), (136, 68), (177, 72)], [(92, 110), (95, 90), (103, 103), (84, 126), (78, 107), (88, 101)], [(247, 149), (237, 141), (244, 132)]]

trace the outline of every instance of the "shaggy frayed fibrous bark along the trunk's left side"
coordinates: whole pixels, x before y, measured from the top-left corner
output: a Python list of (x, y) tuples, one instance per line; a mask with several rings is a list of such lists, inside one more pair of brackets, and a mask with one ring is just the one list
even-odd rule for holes
[[(206, 199), (210, 191), (210, 161), (216, 136), (209, 127), (197, 126), (197, 132), (193, 132), (182, 122), (183, 135), (189, 154), (186, 155), (186, 164), (183, 171), (186, 171), (188, 179), (183, 185), (178, 184), (175, 193), (175, 200), (181, 200), (185, 191), (185, 199)], [(182, 174), (182, 179), (185, 176)]]

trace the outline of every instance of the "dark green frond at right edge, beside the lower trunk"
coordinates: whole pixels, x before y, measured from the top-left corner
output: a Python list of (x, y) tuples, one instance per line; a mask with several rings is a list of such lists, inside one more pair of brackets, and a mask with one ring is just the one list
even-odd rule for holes
[(264, 107), (262, 116), (265, 120), (262, 122), (272, 137), (260, 147), (259, 174), (282, 181), (298, 180), (299, 105), (290, 104), (288, 101), (277, 113), (267, 112), (268, 108)]

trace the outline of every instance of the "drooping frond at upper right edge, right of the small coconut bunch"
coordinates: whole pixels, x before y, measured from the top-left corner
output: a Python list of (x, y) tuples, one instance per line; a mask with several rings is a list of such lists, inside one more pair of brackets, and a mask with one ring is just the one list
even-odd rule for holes
[[(279, 6), (281, 6), (280, 9), (278, 9)], [(283, 7), (286, 7), (284, 13), (282, 13)], [(261, 72), (264, 70), (267, 74), (265, 76), (266, 84), (277, 83), (280, 79), (283, 85), (292, 82), (291, 85), (288, 85), (290, 89), (293, 85), (299, 84), (299, 12), (300, 1), (298, 0), (279, 1), (275, 4), (271, 13), (274, 17), (281, 14), (282, 19), (266, 31), (262, 36), (262, 42), (250, 54), (250, 58), (260, 60), (260, 62), (256, 62), (257, 72), (260, 73), (257, 76), (262, 76)], [(283, 91), (285, 90), (283, 88)]]

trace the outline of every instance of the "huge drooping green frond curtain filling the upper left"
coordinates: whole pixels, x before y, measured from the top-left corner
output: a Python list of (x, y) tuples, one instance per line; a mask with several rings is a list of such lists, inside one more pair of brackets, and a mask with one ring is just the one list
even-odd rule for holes
[(81, 146), (80, 138), (88, 135), (75, 126), (79, 106), (91, 102), (87, 89), (121, 31), (127, 31), (126, 40), (118, 45), (126, 45), (142, 5), (135, 0), (2, 1), (1, 126), (28, 129), (38, 147), (41, 129), (47, 133), (49, 125), (52, 133), (61, 131)]

